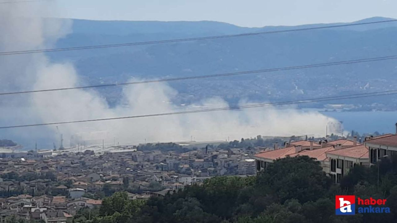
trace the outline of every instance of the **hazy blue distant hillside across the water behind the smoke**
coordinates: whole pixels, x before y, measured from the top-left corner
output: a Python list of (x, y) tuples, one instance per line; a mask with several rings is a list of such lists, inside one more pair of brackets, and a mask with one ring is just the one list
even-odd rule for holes
[[(386, 19), (388, 18), (374, 17), (357, 22)], [(324, 24), (298, 27), (319, 25)], [(57, 47), (204, 37), (298, 27), (247, 28), (213, 21), (73, 20), (73, 33), (59, 40)], [(397, 55), (396, 36), (397, 22), (390, 22), (249, 37), (57, 52), (49, 55), (55, 61), (73, 61), (83, 81), (97, 84), (127, 81), (130, 77), (183, 77)], [(221, 96), (230, 103), (236, 103), (241, 98), (280, 101), (397, 89), (396, 65), (395, 60), (389, 60), (178, 81), (170, 85), (179, 91), (175, 103), (181, 104), (194, 103), (210, 96)], [(121, 93), (119, 88), (99, 90), (111, 104), (118, 102)], [(376, 101), (388, 108), (397, 108), (396, 102), (389, 98)], [(363, 107), (368, 107), (373, 102), (374, 98), (368, 98), (351, 103), (361, 103)]]

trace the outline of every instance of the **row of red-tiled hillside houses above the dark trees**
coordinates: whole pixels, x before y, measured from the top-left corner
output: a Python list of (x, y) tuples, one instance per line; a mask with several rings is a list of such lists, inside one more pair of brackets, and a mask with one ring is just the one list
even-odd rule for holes
[(295, 156), (309, 156), (320, 162), (323, 171), (335, 183), (349, 173), (355, 165), (374, 165), (378, 160), (397, 154), (397, 135), (367, 136), (363, 144), (353, 140), (297, 141), (285, 143), (284, 148), (262, 151), (254, 156), (256, 171), (266, 171), (266, 166), (277, 159)]

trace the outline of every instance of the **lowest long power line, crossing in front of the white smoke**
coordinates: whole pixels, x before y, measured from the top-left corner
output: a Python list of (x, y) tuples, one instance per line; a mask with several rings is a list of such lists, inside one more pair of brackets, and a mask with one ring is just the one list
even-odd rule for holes
[(93, 121), (108, 121), (108, 120), (118, 120), (118, 119), (132, 119), (132, 118), (141, 118), (141, 117), (156, 117), (156, 116), (166, 116), (166, 115), (180, 115), (180, 114), (188, 114), (188, 113), (214, 112), (214, 111), (237, 110), (237, 109), (246, 109), (246, 108), (260, 108), (260, 107), (268, 107), (268, 106), (303, 104), (303, 103), (324, 102), (324, 101), (331, 101), (331, 100), (346, 100), (346, 99), (366, 98), (366, 97), (384, 96), (384, 95), (393, 95), (393, 94), (397, 94), (397, 90), (388, 90), (388, 91), (362, 93), (362, 94), (349, 94), (349, 95), (343, 95), (343, 96), (330, 96), (330, 97), (303, 99), (303, 100), (295, 100), (295, 101), (287, 101), (287, 102), (254, 104), (254, 105), (247, 105), (247, 106), (234, 106), (234, 107), (225, 107), (225, 108), (191, 110), (191, 111), (184, 111), (184, 112), (168, 112), (168, 113), (157, 113), (157, 114), (149, 114), (149, 115), (134, 115), (134, 116), (112, 117), (112, 118), (102, 118), (102, 119), (87, 119), (87, 120), (80, 120), (80, 121), (63, 121), (63, 122), (41, 123), (41, 124), (30, 124), (30, 125), (14, 125), (14, 126), (0, 127), (0, 129), (33, 127), (33, 126), (43, 126), (43, 125), (60, 125), (60, 124), (83, 123), (83, 122), (93, 122)]

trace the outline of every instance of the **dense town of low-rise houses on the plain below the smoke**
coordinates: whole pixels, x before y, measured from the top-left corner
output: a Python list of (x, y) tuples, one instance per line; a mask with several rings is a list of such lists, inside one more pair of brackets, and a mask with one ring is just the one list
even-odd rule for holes
[(100, 206), (105, 196), (117, 191), (127, 192), (129, 200), (147, 200), (214, 176), (255, 175), (252, 156), (259, 148), (243, 145), (239, 142), (233, 144), (237, 148), (227, 149), (212, 145), (183, 149), (177, 144), (107, 146), (99, 154), (88, 149), (17, 152), (3, 148), (0, 217), (3, 222), (10, 216), (63, 222), (73, 219), (81, 208)]

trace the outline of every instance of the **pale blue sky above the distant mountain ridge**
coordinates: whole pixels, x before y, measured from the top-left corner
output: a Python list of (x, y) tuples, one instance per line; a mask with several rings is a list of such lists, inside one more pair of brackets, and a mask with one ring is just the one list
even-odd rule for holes
[[(6, 1), (6, 0), (0, 0)], [(93, 20), (222, 21), (245, 27), (397, 18), (397, 0), (54, 0), (46, 16)]]

